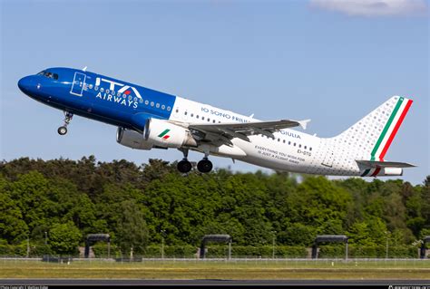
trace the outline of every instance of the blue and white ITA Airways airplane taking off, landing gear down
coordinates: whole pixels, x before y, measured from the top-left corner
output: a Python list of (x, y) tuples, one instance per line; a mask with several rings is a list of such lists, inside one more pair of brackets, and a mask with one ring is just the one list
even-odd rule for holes
[(309, 120), (257, 120), (179, 96), (158, 92), (83, 69), (48, 68), (18, 82), (26, 95), (64, 111), (60, 135), (73, 115), (118, 127), (116, 140), (132, 149), (179, 149), (177, 168), (188, 173), (190, 149), (204, 156), (201, 173), (213, 165), (210, 155), (241, 160), (280, 171), (326, 176), (402, 176), (405, 162), (386, 161), (387, 149), (412, 100), (393, 96), (363, 119), (331, 138), (291, 128)]

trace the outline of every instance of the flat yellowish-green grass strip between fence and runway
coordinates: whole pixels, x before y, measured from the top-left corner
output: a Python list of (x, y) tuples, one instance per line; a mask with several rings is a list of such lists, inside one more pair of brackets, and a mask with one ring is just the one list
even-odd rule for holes
[(430, 279), (430, 260), (144, 261), (0, 260), (0, 278), (80, 279)]

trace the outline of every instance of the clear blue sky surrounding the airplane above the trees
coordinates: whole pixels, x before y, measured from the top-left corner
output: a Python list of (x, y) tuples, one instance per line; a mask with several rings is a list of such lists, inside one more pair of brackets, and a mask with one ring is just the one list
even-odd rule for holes
[(0, 9), (0, 159), (182, 158), (177, 149), (123, 147), (115, 127), (79, 116), (61, 137), (63, 111), (16, 85), (44, 68), (88, 66), (259, 120), (311, 119), (306, 132), (320, 137), (405, 96), (414, 103), (386, 160), (417, 165), (401, 177), (412, 184), (430, 174), (428, 1), (0, 0)]

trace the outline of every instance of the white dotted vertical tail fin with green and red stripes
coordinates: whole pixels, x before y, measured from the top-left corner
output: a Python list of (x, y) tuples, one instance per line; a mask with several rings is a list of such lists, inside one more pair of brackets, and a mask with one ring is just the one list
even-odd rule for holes
[(411, 104), (412, 100), (393, 96), (333, 140), (349, 151), (350, 158), (384, 161)]

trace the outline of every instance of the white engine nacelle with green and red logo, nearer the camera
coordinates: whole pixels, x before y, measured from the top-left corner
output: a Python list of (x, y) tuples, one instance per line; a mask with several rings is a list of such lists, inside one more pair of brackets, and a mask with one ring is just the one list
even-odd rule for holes
[(149, 119), (145, 124), (145, 140), (161, 148), (196, 147), (190, 130), (166, 120)]

